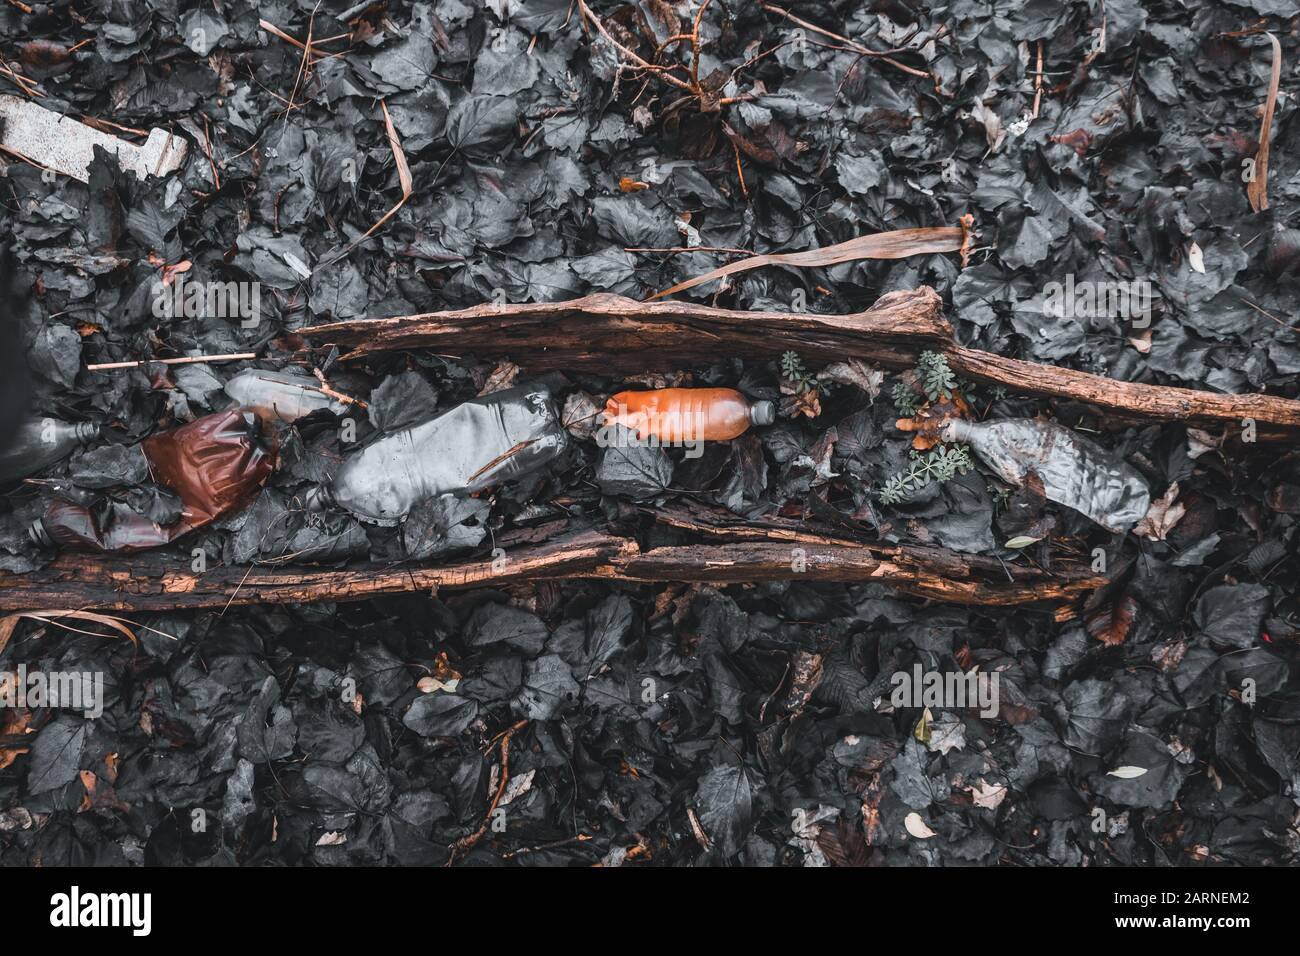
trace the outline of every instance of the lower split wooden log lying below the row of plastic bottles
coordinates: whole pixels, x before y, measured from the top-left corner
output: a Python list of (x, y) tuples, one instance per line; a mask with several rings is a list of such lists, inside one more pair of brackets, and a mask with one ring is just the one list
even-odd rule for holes
[(191, 574), (176, 561), (148, 553), (105, 559), (66, 554), (25, 575), (0, 575), (0, 610), (161, 611), (254, 604), (360, 601), (381, 594), (442, 588), (500, 587), (529, 580), (601, 579), (629, 583), (708, 581), (715, 584), (810, 580), (885, 584), (909, 594), (975, 605), (1069, 601), (1106, 584), (1078, 570), (1026, 580), (1001, 576), (948, 551), (872, 549), (853, 541), (823, 538), (690, 544), (642, 551), (632, 540), (585, 531), (526, 545), (504, 561), (350, 567), (255, 566)]

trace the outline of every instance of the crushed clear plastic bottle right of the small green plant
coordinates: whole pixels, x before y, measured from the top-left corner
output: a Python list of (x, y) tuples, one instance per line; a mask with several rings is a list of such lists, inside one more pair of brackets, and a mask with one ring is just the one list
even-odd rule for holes
[(1022, 485), (1037, 472), (1049, 501), (1072, 507), (1108, 531), (1127, 531), (1145, 516), (1150, 489), (1119, 457), (1050, 421), (953, 419), (944, 441), (966, 442), (994, 473)]

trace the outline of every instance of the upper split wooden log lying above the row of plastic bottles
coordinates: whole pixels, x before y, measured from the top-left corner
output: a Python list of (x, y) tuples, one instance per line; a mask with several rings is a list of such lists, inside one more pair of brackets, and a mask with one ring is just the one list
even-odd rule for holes
[(511, 358), (529, 371), (641, 373), (722, 356), (768, 359), (793, 349), (811, 364), (848, 358), (906, 368), (924, 350), (948, 356), (966, 378), (1014, 394), (1092, 405), (1126, 420), (1187, 421), (1201, 427), (1251, 419), (1260, 438), (1295, 438), (1300, 401), (1222, 394), (1105, 378), (1057, 365), (1009, 359), (959, 346), (928, 286), (889, 293), (864, 312), (742, 312), (689, 302), (636, 302), (588, 295), (571, 302), (474, 306), (396, 319), (316, 325), (302, 334), (338, 345), (352, 360), (407, 349)]

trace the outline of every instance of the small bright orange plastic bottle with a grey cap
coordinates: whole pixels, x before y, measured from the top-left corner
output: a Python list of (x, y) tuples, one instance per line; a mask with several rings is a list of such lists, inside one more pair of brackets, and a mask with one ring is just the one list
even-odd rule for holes
[(604, 424), (630, 428), (641, 440), (664, 445), (729, 441), (750, 425), (776, 420), (771, 402), (750, 402), (736, 389), (655, 389), (620, 392), (604, 403)]

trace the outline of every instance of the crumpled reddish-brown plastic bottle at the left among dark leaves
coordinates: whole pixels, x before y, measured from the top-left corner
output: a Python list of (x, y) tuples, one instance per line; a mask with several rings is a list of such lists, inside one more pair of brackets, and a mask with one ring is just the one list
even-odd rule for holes
[(244, 408), (160, 432), (139, 449), (153, 480), (181, 498), (176, 524), (162, 527), (113, 501), (87, 507), (56, 499), (32, 524), (32, 538), (84, 551), (157, 548), (247, 503), (274, 467), (274, 455), (257, 440), (257, 419)]

